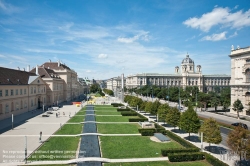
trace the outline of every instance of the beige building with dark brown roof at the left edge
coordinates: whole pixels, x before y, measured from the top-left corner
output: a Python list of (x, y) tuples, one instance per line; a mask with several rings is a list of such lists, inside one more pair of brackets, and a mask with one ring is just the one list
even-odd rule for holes
[(46, 86), (35, 73), (0, 67), (0, 120), (46, 106)]

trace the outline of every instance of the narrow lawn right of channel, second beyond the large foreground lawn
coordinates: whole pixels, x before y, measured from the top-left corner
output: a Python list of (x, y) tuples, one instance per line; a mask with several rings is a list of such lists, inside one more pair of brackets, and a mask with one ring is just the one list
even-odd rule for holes
[(137, 116), (96, 116), (97, 122), (128, 122), (129, 118), (139, 118)]

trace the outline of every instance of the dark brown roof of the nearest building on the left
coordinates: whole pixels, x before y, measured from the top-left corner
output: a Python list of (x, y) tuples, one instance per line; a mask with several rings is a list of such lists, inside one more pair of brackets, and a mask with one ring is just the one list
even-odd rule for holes
[(0, 67), (0, 85), (28, 85), (35, 73)]

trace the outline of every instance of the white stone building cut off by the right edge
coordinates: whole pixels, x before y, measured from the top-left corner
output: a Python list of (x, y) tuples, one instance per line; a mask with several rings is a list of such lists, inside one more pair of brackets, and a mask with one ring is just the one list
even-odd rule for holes
[(239, 99), (243, 106), (243, 115), (250, 115), (247, 112), (250, 102), (250, 47), (234, 49), (232, 46), (231, 54), (231, 109), (232, 113), (236, 113), (233, 103)]

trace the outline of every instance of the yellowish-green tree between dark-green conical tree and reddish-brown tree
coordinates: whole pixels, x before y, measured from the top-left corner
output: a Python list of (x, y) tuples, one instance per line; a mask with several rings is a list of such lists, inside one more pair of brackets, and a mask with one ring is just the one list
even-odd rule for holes
[(201, 125), (200, 132), (203, 132), (204, 141), (209, 143), (209, 150), (211, 143), (219, 144), (222, 141), (220, 127), (213, 118), (204, 121)]

